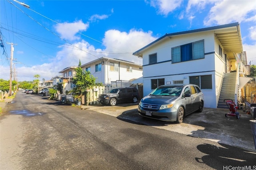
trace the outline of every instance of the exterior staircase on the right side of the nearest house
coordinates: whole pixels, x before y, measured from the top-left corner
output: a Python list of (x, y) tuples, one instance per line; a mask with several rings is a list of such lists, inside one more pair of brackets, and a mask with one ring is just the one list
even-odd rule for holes
[(228, 72), (224, 74), (222, 87), (220, 90), (220, 97), (217, 108), (228, 109), (224, 99), (232, 99), (235, 101), (236, 90), (236, 72)]

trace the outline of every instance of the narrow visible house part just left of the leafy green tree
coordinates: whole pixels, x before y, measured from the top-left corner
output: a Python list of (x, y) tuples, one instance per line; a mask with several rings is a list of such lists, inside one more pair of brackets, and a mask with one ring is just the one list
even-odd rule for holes
[(72, 83), (72, 78), (76, 74), (74, 69), (78, 66), (70, 66), (67, 68), (64, 68), (60, 71), (62, 73), (62, 93), (65, 95), (67, 91), (70, 91), (73, 89), (74, 84)]

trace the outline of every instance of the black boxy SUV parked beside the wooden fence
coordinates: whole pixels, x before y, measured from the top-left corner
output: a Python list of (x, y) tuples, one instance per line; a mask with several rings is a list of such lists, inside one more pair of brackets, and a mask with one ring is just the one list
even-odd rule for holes
[(139, 92), (134, 87), (113, 88), (108, 94), (99, 94), (98, 102), (115, 106), (121, 102), (138, 102)]

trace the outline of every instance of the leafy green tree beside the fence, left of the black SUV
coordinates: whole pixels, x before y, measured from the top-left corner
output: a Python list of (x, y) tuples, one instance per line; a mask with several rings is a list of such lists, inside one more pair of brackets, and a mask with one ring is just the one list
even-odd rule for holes
[(84, 71), (81, 67), (75, 68), (76, 75), (73, 77), (73, 83), (76, 87), (72, 92), (78, 100), (82, 100), (82, 96), (86, 94), (86, 89), (95, 85), (96, 78), (90, 72)]

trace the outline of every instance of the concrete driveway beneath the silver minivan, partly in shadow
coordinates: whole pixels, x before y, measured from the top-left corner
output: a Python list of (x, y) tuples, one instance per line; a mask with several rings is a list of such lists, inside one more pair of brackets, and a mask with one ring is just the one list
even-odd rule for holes
[(249, 121), (252, 119), (252, 115), (248, 115), (242, 110), (238, 110), (241, 117), (236, 119), (231, 116), (225, 117), (228, 109), (204, 108), (202, 113), (192, 113), (184, 119), (183, 123), (177, 124), (141, 117), (138, 115), (137, 108), (138, 104), (119, 104), (117, 106), (99, 104), (81, 107), (81, 109), (112, 115), (124, 121), (149, 125), (256, 152)]

